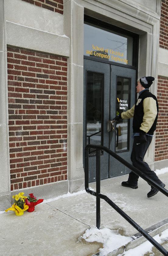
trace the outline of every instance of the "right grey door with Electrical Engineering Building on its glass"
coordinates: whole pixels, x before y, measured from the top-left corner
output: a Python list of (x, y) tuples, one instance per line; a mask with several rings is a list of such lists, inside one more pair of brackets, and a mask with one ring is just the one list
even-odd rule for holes
[[(110, 120), (116, 114), (127, 111), (135, 104), (136, 70), (111, 65)], [(132, 118), (116, 124), (116, 132), (110, 132), (109, 148), (131, 163), (133, 145)], [(114, 158), (109, 158), (109, 177), (129, 173), (130, 170)]]

